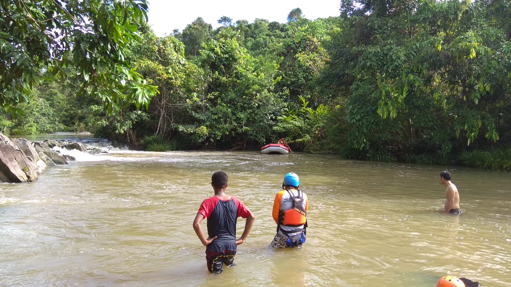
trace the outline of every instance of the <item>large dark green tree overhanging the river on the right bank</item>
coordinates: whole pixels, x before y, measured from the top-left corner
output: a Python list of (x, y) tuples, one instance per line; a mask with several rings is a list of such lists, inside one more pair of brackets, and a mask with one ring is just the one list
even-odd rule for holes
[(344, 11), (323, 74), (345, 104), (341, 145), (365, 159), (432, 155), (453, 163), (446, 155), (493, 145), (506, 133), (506, 13), (490, 16), (486, 1), (364, 3)]

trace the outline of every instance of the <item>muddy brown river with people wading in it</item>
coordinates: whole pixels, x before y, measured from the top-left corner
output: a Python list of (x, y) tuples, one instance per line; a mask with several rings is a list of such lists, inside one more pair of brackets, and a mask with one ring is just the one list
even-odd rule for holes
[[(444, 275), (511, 285), (509, 173), (450, 168), (456, 217), (442, 213), (444, 166), (238, 151), (74, 155), (36, 182), (0, 184), (0, 286), (434, 287)], [(237, 266), (212, 275), (192, 222), (218, 170), (255, 222)], [(307, 242), (272, 249), (273, 198), (288, 172), (309, 196)]]

